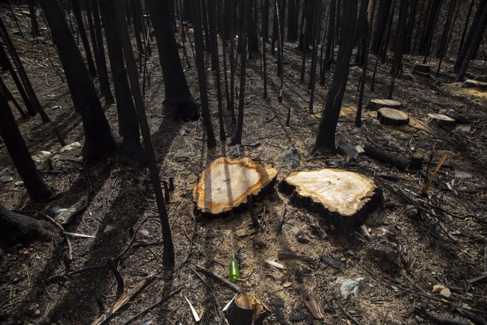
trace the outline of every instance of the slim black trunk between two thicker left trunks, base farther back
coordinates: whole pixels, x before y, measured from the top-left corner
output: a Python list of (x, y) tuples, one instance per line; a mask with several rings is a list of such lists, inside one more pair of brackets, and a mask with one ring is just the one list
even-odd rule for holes
[[(100, 80), (100, 89), (105, 98), (106, 105), (115, 103), (110, 89), (110, 81), (108, 79), (107, 59), (105, 58), (105, 46), (103, 45), (103, 35), (101, 32), (100, 14), (98, 12), (98, 4), (96, 0), (90, 0), (89, 7), (93, 15), (95, 34), (91, 35), (93, 42), (93, 51), (95, 52), (96, 70), (98, 70), (98, 78)], [(91, 21), (91, 15), (88, 17)]]

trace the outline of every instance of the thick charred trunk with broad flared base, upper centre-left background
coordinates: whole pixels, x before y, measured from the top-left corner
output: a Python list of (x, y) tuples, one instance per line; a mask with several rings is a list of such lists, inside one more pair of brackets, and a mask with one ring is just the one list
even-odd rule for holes
[(172, 31), (169, 2), (147, 0), (146, 3), (154, 27), (164, 77), (166, 115), (174, 119), (198, 119), (198, 104), (186, 82), (178, 45)]

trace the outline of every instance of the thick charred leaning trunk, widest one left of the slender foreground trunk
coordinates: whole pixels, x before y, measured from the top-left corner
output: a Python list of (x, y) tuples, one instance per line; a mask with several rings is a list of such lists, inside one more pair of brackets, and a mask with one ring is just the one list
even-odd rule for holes
[(57, 2), (39, 1), (51, 27), (52, 40), (59, 52), (75, 109), (80, 113), (85, 132), (83, 156), (88, 160), (105, 157), (117, 149), (110, 124), (103, 114), (95, 87), (83, 57)]

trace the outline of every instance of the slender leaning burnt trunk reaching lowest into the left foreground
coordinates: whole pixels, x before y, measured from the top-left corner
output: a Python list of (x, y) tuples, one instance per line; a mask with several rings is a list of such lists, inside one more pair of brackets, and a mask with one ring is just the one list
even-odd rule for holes
[(146, 147), (152, 185), (154, 187), (157, 209), (159, 211), (159, 217), (161, 221), (162, 238), (164, 241), (163, 260), (165, 265), (173, 267), (174, 246), (172, 244), (171, 229), (169, 225), (169, 219), (167, 217), (166, 207), (164, 205), (164, 197), (162, 196), (161, 180), (159, 178), (159, 170), (157, 167), (154, 147), (152, 145), (151, 131), (147, 122), (144, 100), (142, 98), (140, 85), (138, 84), (137, 67), (135, 66), (135, 58), (133, 56), (132, 44), (130, 43), (130, 37), (128, 35), (127, 25), (123, 14), (123, 8), (121, 7), (122, 4), (116, 1), (113, 1), (112, 4), (114, 6), (117, 23), (120, 27), (120, 36), (122, 39), (122, 48), (125, 55), (125, 63), (127, 65), (127, 71), (130, 79), (130, 85), (132, 88), (135, 108), (137, 111), (138, 122), (141, 126), (142, 138), (144, 139)]

